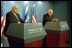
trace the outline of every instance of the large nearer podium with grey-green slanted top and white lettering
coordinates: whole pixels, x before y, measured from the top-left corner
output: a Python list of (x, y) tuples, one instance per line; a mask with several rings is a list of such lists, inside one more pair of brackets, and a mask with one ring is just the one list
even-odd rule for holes
[(6, 35), (12, 47), (42, 47), (46, 32), (42, 23), (10, 23)]

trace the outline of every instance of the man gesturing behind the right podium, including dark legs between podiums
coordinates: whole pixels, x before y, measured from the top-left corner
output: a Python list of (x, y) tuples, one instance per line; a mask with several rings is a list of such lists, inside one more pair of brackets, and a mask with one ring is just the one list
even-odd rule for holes
[[(48, 13), (44, 14), (43, 22), (42, 22), (43, 26), (45, 26), (46, 22), (48, 22), (48, 21), (54, 21), (54, 22), (59, 21), (59, 19), (56, 19), (52, 14), (53, 14), (52, 9), (49, 9)], [(43, 39), (43, 47), (47, 47), (46, 46), (46, 37)]]

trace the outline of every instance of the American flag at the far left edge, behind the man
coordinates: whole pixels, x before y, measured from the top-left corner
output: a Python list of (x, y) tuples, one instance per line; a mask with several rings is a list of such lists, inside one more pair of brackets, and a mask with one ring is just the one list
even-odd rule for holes
[[(3, 34), (5, 28), (5, 19), (6, 19), (6, 15), (5, 15), (4, 2), (1, 1), (1, 46), (3, 44), (2, 37), (4, 36)], [(6, 38), (6, 36), (4, 36), (4, 38)]]

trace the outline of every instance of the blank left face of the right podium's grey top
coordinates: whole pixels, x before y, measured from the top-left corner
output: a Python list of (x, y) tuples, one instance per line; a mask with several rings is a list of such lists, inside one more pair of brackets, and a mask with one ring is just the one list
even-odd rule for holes
[(46, 22), (44, 28), (45, 30), (60, 31), (60, 24), (59, 22)]

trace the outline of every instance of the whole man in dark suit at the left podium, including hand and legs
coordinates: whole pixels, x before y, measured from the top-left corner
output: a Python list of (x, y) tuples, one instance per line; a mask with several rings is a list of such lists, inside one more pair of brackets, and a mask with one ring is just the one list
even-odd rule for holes
[[(9, 24), (10, 23), (24, 23), (24, 20), (20, 18), (20, 15), (17, 13), (18, 12), (18, 5), (14, 5), (12, 7), (12, 10), (9, 11), (7, 14), (6, 14), (6, 26), (5, 26), (5, 29), (4, 29), (4, 35), (6, 35), (6, 31), (9, 27)], [(25, 23), (27, 23), (28, 21), (25, 21)], [(6, 35), (7, 36), (7, 35)], [(8, 38), (8, 36), (7, 36)], [(10, 40), (8, 38), (8, 41), (9, 41), (9, 45), (10, 47), (13, 47), (12, 45), (13, 44), (17, 44), (18, 46), (22, 46), (21, 44), (18, 44), (18, 43), (15, 43), (14, 41)]]

